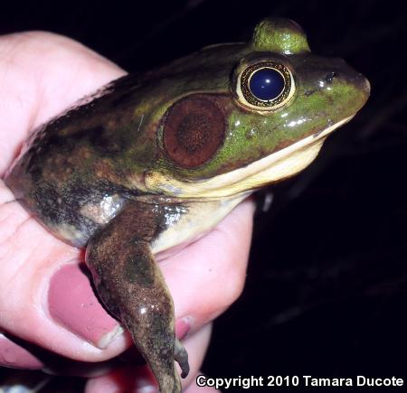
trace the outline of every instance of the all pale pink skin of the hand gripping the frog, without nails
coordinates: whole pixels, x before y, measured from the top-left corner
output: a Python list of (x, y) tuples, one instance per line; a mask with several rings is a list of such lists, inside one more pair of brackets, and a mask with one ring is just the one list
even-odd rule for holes
[[(97, 53), (59, 35), (33, 32), (0, 37), (0, 332), (71, 360), (110, 360), (132, 343), (121, 334), (99, 349), (52, 319), (47, 303), (50, 278), (67, 264), (83, 262), (83, 251), (43, 229), (14, 201), (3, 179), (36, 126), (123, 74)], [(243, 201), (204, 238), (160, 262), (176, 319), (193, 321), (183, 341), (191, 364), (190, 375), (183, 380), (187, 392), (212, 390), (197, 388), (194, 379), (204, 360), (211, 321), (241, 294), (252, 213), (252, 201)], [(18, 360), (14, 366), (24, 368)], [(128, 391), (134, 379), (147, 379), (146, 369), (128, 368), (131, 372), (92, 374), (87, 393)]]

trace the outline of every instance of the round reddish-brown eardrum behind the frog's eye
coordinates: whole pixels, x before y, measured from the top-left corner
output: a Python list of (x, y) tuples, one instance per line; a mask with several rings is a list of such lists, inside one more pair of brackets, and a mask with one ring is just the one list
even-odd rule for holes
[(223, 144), (225, 119), (213, 99), (190, 96), (168, 109), (163, 131), (168, 157), (183, 168), (197, 168)]

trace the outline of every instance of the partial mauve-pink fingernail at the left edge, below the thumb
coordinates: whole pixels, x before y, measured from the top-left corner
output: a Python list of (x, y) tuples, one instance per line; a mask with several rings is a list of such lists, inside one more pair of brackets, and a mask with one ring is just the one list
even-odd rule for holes
[(43, 369), (43, 362), (0, 333), (0, 366), (13, 369)]

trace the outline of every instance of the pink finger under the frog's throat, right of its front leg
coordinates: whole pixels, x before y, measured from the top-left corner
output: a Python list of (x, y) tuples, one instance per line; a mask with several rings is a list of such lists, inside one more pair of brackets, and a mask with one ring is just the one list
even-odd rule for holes
[(183, 332), (212, 321), (240, 295), (254, 204), (243, 201), (204, 238), (161, 263)]

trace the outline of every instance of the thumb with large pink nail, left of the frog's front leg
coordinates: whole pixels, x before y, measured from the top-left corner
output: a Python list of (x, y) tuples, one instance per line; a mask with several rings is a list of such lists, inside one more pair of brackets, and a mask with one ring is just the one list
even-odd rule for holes
[[(55, 239), (11, 198), (0, 182), (1, 329), (75, 360), (106, 360), (123, 351), (129, 343), (125, 338), (107, 351), (97, 347), (103, 335), (115, 334), (118, 322), (104, 311), (88, 277), (78, 268), (82, 251)], [(50, 282), (63, 290), (56, 312), (49, 302), (54, 293)], [(58, 307), (64, 310), (58, 313)], [(74, 326), (83, 324), (87, 337), (59, 320), (70, 311), (67, 318)]]

